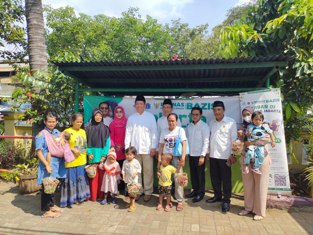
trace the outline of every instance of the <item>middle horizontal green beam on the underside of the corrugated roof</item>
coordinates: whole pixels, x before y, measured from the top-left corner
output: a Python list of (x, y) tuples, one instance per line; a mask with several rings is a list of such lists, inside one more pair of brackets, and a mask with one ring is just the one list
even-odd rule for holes
[[(202, 83), (202, 82), (234, 82), (234, 81), (261, 81), (263, 76), (240, 76), (240, 77), (192, 77), (192, 78), (152, 78), (152, 79), (115, 79), (99, 78), (86, 79), (91, 83)], [(85, 79), (84, 79), (85, 80)]]

